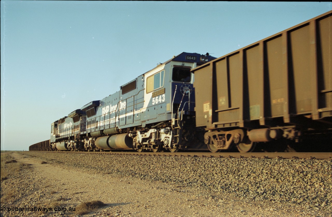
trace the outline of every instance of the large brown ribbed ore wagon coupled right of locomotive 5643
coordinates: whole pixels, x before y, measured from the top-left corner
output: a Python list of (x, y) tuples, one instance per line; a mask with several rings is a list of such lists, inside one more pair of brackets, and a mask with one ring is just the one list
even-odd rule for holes
[(331, 32), (329, 11), (193, 69), (196, 125), (210, 151), (331, 139)]

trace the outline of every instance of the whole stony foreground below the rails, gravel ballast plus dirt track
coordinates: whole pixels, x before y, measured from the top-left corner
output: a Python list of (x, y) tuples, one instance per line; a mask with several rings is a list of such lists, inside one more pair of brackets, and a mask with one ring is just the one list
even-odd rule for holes
[[(17, 163), (31, 166), (1, 182), (1, 205), (5, 207), (78, 207), (82, 202), (100, 200), (106, 205), (84, 216), (332, 214), (330, 160), (65, 152), (10, 155)], [(43, 161), (47, 163), (41, 164)], [(15, 192), (15, 199), (3, 200), (9, 192)], [(1, 212), (1, 216), (23, 214)]]

